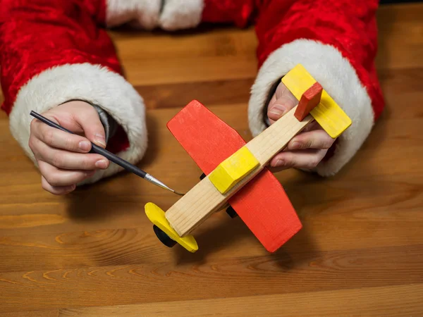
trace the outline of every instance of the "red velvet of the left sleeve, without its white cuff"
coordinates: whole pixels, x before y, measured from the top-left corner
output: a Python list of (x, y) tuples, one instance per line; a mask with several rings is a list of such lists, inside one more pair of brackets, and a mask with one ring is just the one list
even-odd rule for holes
[[(54, 66), (92, 63), (122, 73), (105, 18), (103, 0), (1, 0), (1, 108), (10, 113), (19, 89)], [(128, 147), (118, 136), (110, 142), (115, 152)]]

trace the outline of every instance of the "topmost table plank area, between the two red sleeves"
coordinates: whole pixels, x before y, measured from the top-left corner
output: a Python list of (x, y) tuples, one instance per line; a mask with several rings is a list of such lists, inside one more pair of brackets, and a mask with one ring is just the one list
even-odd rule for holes
[(252, 28), (204, 31), (185, 37), (165, 32), (111, 34), (135, 86), (255, 77), (257, 37)]

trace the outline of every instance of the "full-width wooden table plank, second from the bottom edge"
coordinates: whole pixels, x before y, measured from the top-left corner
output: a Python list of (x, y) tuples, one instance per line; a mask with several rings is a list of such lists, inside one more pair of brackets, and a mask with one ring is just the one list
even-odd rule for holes
[[(0, 313), (423, 283), (423, 244), (0, 274)], [(301, 282), (298, 282), (301, 281)], [(189, 292), (187, 291), (189, 290)]]

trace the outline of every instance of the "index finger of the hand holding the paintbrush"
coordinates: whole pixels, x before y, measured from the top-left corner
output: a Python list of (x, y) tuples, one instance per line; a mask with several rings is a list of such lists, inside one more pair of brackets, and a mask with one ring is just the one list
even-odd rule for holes
[(34, 125), (31, 131), (34, 137), (40, 139), (45, 144), (56, 149), (66, 149), (68, 151), (87, 153), (91, 150), (91, 142), (85, 137), (72, 135), (71, 133), (52, 128), (42, 123)]

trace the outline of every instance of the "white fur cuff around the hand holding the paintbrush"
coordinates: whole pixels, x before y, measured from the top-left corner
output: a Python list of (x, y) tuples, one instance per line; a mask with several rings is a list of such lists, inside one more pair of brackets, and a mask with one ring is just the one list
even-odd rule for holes
[[(87, 100), (109, 113), (125, 130), (130, 143), (130, 147), (118, 156), (130, 163), (140, 161), (147, 149), (144, 101), (121, 75), (102, 66), (83, 63), (44, 70), (18, 93), (10, 115), (11, 132), (34, 163), (28, 146), (30, 111), (43, 113), (71, 99)], [(111, 163), (107, 170), (97, 171), (85, 182), (95, 182), (119, 170), (119, 166)]]

